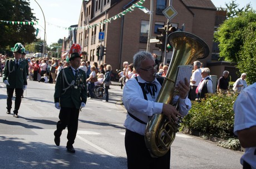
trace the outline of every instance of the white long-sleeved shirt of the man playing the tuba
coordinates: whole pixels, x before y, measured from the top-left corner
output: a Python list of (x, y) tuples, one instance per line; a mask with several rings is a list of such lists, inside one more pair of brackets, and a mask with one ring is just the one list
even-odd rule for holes
[[(146, 83), (145, 80), (138, 77), (140, 83)], [(160, 114), (163, 109), (163, 103), (157, 103), (156, 98), (159, 95), (161, 85), (156, 79), (152, 82), (157, 87), (155, 92), (155, 97), (152, 97), (150, 93), (146, 94), (147, 100), (144, 99), (144, 95), (141, 89), (141, 86), (135, 78), (128, 80), (124, 86), (122, 102), (128, 112), (137, 117), (138, 119), (148, 122), (149, 116), (153, 114)], [(179, 98), (179, 112), (182, 115), (188, 114), (188, 111), (191, 109), (191, 102), (188, 99)], [(146, 125), (141, 124), (140, 122), (133, 119), (129, 114), (126, 116), (124, 123), (126, 129), (136, 132), (140, 135), (145, 135)]]

